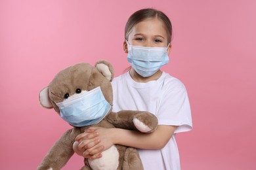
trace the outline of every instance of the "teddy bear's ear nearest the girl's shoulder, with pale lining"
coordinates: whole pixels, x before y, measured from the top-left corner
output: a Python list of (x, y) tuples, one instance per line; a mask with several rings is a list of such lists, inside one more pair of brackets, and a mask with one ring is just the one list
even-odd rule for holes
[(95, 63), (95, 67), (100, 71), (102, 75), (104, 75), (110, 82), (114, 78), (114, 68), (110, 64), (110, 62), (106, 60), (100, 60)]

